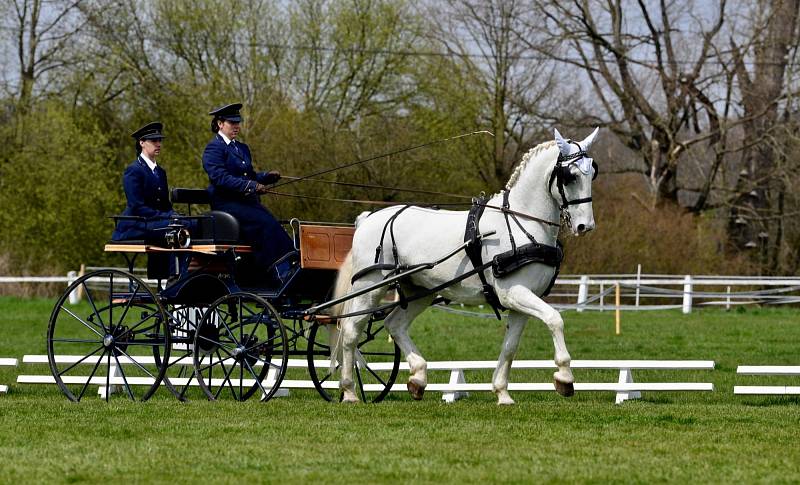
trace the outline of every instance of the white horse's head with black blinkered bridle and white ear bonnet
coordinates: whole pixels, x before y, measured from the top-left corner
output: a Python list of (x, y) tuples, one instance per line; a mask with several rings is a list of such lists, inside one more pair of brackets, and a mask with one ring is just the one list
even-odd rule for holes
[(555, 130), (559, 153), (548, 188), (575, 235), (594, 229), (592, 180), (597, 177), (598, 167), (587, 152), (598, 130), (595, 128), (591, 135), (580, 142), (565, 140)]

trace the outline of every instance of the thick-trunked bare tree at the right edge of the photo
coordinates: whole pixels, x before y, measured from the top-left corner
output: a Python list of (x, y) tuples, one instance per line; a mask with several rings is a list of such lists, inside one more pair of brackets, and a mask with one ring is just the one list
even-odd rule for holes
[(752, 32), (730, 39), (744, 136), (750, 143), (739, 172), (729, 234), (740, 249), (761, 248), (770, 272), (778, 269), (784, 239), (786, 183), (780, 169), (787, 133), (782, 130), (791, 109), (785, 101), (785, 74), (798, 42), (799, 9), (798, 0), (759, 1), (749, 12)]

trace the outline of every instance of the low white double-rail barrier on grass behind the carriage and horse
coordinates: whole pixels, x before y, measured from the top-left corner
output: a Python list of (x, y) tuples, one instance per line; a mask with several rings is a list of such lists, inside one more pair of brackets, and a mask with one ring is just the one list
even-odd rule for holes
[[(97, 362), (98, 357), (85, 356), (71, 356), (61, 355), (56, 357), (57, 361), (62, 364), (75, 364), (80, 361), (83, 365), (93, 365)], [(81, 360), (83, 359), (83, 360)], [(153, 364), (152, 357), (137, 357), (136, 361), (142, 365)], [(46, 364), (46, 355), (26, 355), (23, 357), (22, 362), (25, 364)], [(175, 360), (178, 365), (190, 365), (186, 360)], [(276, 361), (277, 363), (277, 361)], [(129, 365), (132, 362), (127, 358), (120, 358), (120, 364)], [(260, 363), (257, 363), (258, 366)], [(305, 359), (289, 359), (289, 368), (307, 368), (307, 361)], [(316, 361), (315, 365), (318, 368), (326, 368), (329, 366), (327, 360)], [(428, 362), (428, 371), (438, 372), (445, 371), (449, 373), (448, 383), (430, 383), (426, 391), (442, 393), (442, 399), (445, 402), (453, 402), (459, 398), (466, 397), (469, 392), (491, 392), (491, 382), (467, 382), (465, 371), (494, 369), (497, 363), (495, 361), (445, 361), (445, 362)], [(575, 383), (576, 392), (585, 391), (601, 391), (613, 392), (616, 394), (616, 404), (621, 404), (628, 399), (637, 399), (641, 397), (642, 392), (655, 392), (655, 391), (713, 391), (714, 384), (711, 382), (635, 382), (633, 379), (633, 371), (647, 371), (647, 370), (713, 370), (714, 361), (711, 360), (573, 360), (573, 369), (593, 369), (593, 370), (615, 370), (618, 371), (617, 382), (582, 382)], [(391, 363), (385, 364), (371, 364), (374, 369), (388, 370), (391, 368)], [(555, 369), (556, 365), (551, 360), (518, 360), (512, 365), (514, 369)], [(400, 370), (408, 371), (408, 364), (403, 362), (400, 364)], [(580, 375), (578, 375), (580, 377)], [(84, 383), (89, 379), (89, 376), (71, 376), (70, 383)], [(269, 376), (267, 377), (269, 379)], [(90, 384), (98, 385), (98, 395), (105, 396), (106, 378), (96, 376), (92, 379)], [(123, 378), (120, 376), (112, 376), (109, 382), (113, 385), (124, 384)], [(195, 386), (197, 381), (191, 377), (181, 379), (171, 379), (171, 382), (176, 386)], [(17, 377), (19, 384), (55, 384), (55, 379), (47, 373), (42, 374), (23, 374)], [(149, 378), (139, 378), (137, 380), (128, 379), (130, 385), (152, 385), (153, 380)], [(251, 386), (255, 383), (254, 380), (245, 379), (244, 385)], [(339, 382), (335, 380), (326, 381), (324, 383), (326, 389), (338, 389)], [(313, 389), (314, 384), (310, 380), (294, 380), (284, 379), (281, 383), (281, 390), (284, 391), (282, 395), (287, 395), (289, 389)], [(378, 384), (366, 386), (368, 391), (379, 391), (382, 387)], [(509, 391), (555, 391), (552, 382), (511, 382), (508, 385)], [(405, 383), (396, 383), (392, 386), (392, 392), (406, 392)]]

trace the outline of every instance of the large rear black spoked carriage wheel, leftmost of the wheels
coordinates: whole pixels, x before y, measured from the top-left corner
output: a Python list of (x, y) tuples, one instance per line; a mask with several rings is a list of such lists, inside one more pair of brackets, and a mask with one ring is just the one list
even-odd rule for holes
[[(73, 306), (74, 291), (84, 298)], [(56, 384), (76, 402), (94, 386), (105, 388), (106, 401), (113, 394), (147, 400), (165, 371), (153, 355), (169, 358), (166, 321), (158, 297), (136, 276), (113, 269), (81, 276), (50, 314), (47, 358)]]

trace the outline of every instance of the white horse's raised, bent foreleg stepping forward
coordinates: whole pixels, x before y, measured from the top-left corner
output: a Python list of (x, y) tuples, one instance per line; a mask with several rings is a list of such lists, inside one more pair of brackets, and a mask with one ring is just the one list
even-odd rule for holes
[(558, 370), (553, 374), (556, 391), (562, 396), (572, 396), (575, 393), (572, 385), (575, 378), (569, 367), (572, 359), (567, 351), (567, 344), (564, 342), (564, 319), (561, 318), (561, 314), (521, 285), (512, 287), (507, 292), (505, 300), (502, 303), (506, 307), (536, 317), (547, 325), (553, 336), (555, 363), (558, 366)]

